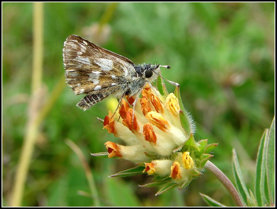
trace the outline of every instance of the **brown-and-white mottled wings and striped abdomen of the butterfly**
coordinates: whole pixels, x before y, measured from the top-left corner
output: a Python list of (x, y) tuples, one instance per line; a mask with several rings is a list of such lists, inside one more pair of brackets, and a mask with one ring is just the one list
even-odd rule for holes
[(63, 64), (68, 86), (75, 94), (87, 94), (77, 104), (84, 110), (121, 91), (122, 83), (135, 73), (129, 59), (76, 35), (70, 35), (64, 42)]

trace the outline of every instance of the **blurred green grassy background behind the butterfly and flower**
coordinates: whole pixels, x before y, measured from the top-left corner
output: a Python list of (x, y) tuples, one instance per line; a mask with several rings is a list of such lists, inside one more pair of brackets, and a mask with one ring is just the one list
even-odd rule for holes
[[(82, 36), (134, 63), (170, 65), (163, 76), (180, 84), (185, 108), (196, 122), (196, 139), (219, 143), (211, 159), (233, 181), (231, 150), (253, 191), (255, 158), (263, 130), (275, 114), (274, 3), (44, 3), (43, 76), (47, 102), (64, 75), (66, 37)], [(10, 205), (28, 123), (33, 63), (33, 3), (2, 3), (2, 195)], [(100, 29), (99, 29), (100, 28)], [(168, 91), (174, 86), (166, 83)], [(66, 83), (39, 126), (24, 185), (22, 206), (93, 206), (78, 145), (94, 175), (101, 206), (207, 206), (199, 192), (234, 206), (209, 172), (183, 189), (155, 197), (141, 188), (147, 175), (108, 178), (133, 167), (123, 160), (91, 157), (106, 141), (102, 130), (109, 101), (89, 111), (75, 105)], [(81, 192), (82, 191), (82, 192)]]

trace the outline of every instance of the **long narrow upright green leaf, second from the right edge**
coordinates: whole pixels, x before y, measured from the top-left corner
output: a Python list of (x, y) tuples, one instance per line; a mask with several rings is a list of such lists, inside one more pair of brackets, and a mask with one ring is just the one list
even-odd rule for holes
[(260, 145), (257, 154), (256, 162), (256, 178), (255, 178), (255, 197), (258, 206), (263, 206), (265, 201), (264, 196), (264, 180), (265, 180), (265, 158), (263, 158), (265, 139), (268, 135), (268, 129), (265, 129), (260, 140)]

